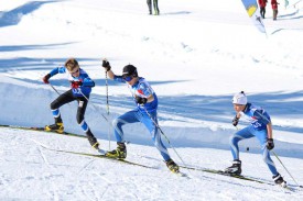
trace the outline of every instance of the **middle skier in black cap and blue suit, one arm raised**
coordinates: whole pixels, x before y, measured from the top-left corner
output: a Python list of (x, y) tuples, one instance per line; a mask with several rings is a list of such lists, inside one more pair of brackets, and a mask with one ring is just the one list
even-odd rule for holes
[(108, 152), (106, 155), (112, 158), (125, 159), (127, 157), (127, 148), (122, 126), (128, 123), (141, 122), (149, 130), (154, 146), (164, 158), (169, 169), (173, 172), (177, 172), (178, 166), (171, 159), (166, 147), (161, 141), (156, 119), (158, 98), (149, 82), (144, 78), (138, 76), (137, 68), (132, 65), (127, 65), (123, 68), (122, 76), (115, 75), (109, 62), (106, 59), (102, 62), (102, 67), (106, 69), (110, 79), (128, 83), (133, 100), (137, 103), (134, 110), (131, 110), (113, 120), (113, 133), (118, 147), (117, 149)]

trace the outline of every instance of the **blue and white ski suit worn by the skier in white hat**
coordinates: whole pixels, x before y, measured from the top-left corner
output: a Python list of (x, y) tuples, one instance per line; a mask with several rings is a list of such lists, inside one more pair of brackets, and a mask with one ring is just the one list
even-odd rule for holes
[(267, 124), (271, 122), (269, 114), (262, 108), (252, 105), (251, 103), (247, 103), (246, 109), (240, 112), (240, 114), (241, 116), (245, 115), (250, 121), (250, 125), (238, 131), (229, 138), (234, 159), (239, 159), (239, 141), (256, 136), (261, 145), (263, 161), (268, 165), (273, 176), (278, 175), (277, 168), (270, 157), (270, 153), (266, 147), (268, 138)]

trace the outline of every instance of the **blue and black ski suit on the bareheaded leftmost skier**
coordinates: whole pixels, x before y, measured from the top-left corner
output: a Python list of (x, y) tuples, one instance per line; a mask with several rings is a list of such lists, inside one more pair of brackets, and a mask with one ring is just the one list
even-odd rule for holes
[[(57, 67), (54, 68), (50, 75), (51, 77), (55, 76), (56, 74), (68, 74), (65, 67)], [(95, 82), (89, 78), (87, 72), (79, 68), (79, 76), (74, 77), (71, 74), (68, 74), (68, 80), (72, 81), (82, 81), (83, 85), (75, 89), (72, 88), (68, 91), (62, 93), (56, 100), (54, 100), (51, 103), (51, 110), (53, 113), (53, 116), (55, 118), (56, 123), (62, 122), (61, 120), (61, 113), (59, 113), (59, 107), (63, 104), (66, 104), (68, 102), (72, 102), (74, 100), (77, 100), (78, 102), (78, 109), (77, 109), (77, 123), (82, 126), (83, 131), (88, 135), (93, 135), (87, 123), (84, 120), (85, 110), (87, 107), (88, 100), (86, 98), (89, 98), (89, 94), (91, 92), (91, 88), (95, 87)], [(84, 97), (84, 96), (86, 97)]]

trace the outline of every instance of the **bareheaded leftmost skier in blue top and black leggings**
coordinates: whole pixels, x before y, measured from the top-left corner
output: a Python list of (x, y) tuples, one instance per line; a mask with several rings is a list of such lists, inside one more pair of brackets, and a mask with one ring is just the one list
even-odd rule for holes
[[(65, 62), (64, 67), (54, 68), (50, 74), (43, 77), (44, 83), (50, 83), (48, 79), (56, 74), (68, 72), (68, 80), (71, 87), (68, 91), (62, 93), (56, 100), (51, 103), (51, 110), (55, 119), (55, 124), (46, 125), (45, 131), (54, 131), (57, 133), (64, 132), (63, 121), (61, 119), (59, 108), (72, 101), (78, 102), (77, 109), (77, 122), (85, 132), (90, 145), (98, 149), (99, 143), (91, 133), (87, 123), (84, 120), (85, 110), (88, 103), (88, 98), (91, 92), (91, 88), (95, 87), (95, 82), (88, 77), (85, 70), (83, 70), (78, 62), (75, 58), (69, 58)], [(87, 98), (87, 99), (86, 99)]]

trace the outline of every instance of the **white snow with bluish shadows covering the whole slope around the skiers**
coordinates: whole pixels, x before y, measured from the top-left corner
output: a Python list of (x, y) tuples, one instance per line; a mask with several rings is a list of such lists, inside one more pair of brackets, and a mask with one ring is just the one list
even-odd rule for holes
[[(50, 103), (57, 94), (42, 77), (73, 56), (97, 83), (86, 121), (107, 149), (101, 58), (116, 74), (131, 63), (155, 90), (160, 126), (186, 165), (213, 169), (230, 165), (228, 137), (236, 132), (230, 124), (231, 98), (244, 90), (249, 101), (270, 113), (274, 152), (302, 185), (303, 2), (289, 2), (286, 9), (280, 2), (278, 21), (272, 21), (267, 5), (266, 35), (252, 25), (241, 1), (165, 0), (159, 2), (161, 15), (155, 16), (148, 15), (145, 1), (139, 0), (0, 0), (0, 124), (52, 124)], [(64, 75), (51, 83), (59, 92), (69, 87)], [(108, 118), (113, 120), (134, 104), (125, 85), (108, 83)], [(61, 109), (65, 130), (83, 135), (75, 108), (69, 103)], [(239, 129), (246, 125), (240, 122)], [(130, 142), (127, 159), (155, 169), (56, 153), (35, 143), (94, 153), (85, 138), (0, 127), (0, 200), (303, 198), (302, 190), (283, 191), (207, 172), (183, 170), (188, 178), (177, 177), (169, 172), (143, 125), (125, 129)], [(272, 182), (257, 139), (241, 142), (240, 149), (244, 175)], [(170, 154), (182, 165), (172, 148)]]

